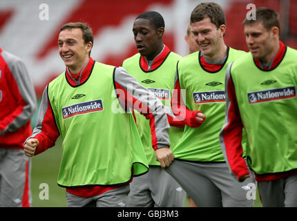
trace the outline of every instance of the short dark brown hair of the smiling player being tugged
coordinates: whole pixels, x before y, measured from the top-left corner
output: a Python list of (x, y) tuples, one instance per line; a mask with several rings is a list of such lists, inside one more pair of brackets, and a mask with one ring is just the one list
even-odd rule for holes
[(217, 28), (226, 25), (226, 17), (222, 7), (214, 2), (203, 2), (194, 8), (191, 13), (191, 23), (202, 21), (203, 19), (211, 19), (211, 23)]

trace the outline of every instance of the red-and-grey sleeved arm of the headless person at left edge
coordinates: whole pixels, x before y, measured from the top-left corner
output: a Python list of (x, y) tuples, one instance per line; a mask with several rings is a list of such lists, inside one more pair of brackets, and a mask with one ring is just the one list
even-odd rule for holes
[(6, 80), (10, 84), (10, 93), (12, 93), (18, 105), (10, 115), (0, 120), (0, 135), (8, 131), (17, 131), (27, 124), (37, 109), (34, 86), (25, 64), (17, 57), (12, 57), (12, 55), (7, 59), (9, 67), (7, 71), (9, 73), (4, 77), (7, 77)]

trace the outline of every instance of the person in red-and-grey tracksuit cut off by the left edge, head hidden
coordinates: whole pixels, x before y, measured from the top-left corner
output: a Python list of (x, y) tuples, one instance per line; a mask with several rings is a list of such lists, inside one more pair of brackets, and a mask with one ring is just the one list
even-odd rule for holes
[(37, 108), (23, 61), (0, 48), (0, 207), (31, 206), (30, 159), (23, 141), (32, 133)]

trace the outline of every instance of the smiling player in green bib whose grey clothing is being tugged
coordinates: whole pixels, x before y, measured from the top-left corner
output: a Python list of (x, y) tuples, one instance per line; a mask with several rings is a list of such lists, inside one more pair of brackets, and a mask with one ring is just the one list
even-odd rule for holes
[[(172, 109), (186, 126), (180, 142), (173, 147), (175, 160), (166, 171), (198, 207), (253, 206), (246, 190), (253, 177), (239, 183), (231, 176), (218, 139), (224, 123), (227, 64), (245, 52), (224, 44), (226, 21), (217, 3), (200, 3), (195, 7), (191, 30), (200, 52), (187, 55), (178, 63), (175, 77), (178, 95), (173, 95)], [(199, 117), (193, 117), (198, 113)]]

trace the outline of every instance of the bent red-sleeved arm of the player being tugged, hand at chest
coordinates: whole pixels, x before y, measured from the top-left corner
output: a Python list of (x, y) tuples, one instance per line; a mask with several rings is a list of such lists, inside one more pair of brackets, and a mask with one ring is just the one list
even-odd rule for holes
[(184, 104), (178, 71), (175, 75), (175, 86), (171, 99), (171, 108), (173, 114), (188, 126), (199, 127), (205, 121), (205, 115), (201, 111), (191, 111), (186, 104)]

